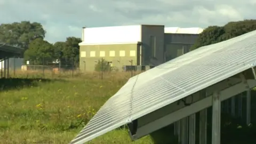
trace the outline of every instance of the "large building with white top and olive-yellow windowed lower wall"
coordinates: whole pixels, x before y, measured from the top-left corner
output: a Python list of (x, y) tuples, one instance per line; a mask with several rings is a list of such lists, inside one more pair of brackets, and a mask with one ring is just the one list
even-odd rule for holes
[(186, 53), (185, 47), (195, 42), (200, 28), (193, 30), (163, 25), (83, 28), (79, 68), (93, 71), (101, 59), (118, 70), (131, 65), (157, 66), (180, 55), (175, 51)]

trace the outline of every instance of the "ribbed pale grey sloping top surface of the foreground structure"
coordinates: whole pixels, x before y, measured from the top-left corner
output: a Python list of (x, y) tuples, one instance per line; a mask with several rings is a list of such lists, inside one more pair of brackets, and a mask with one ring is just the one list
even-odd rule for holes
[(71, 143), (83, 143), (248, 69), (256, 58), (256, 31), (201, 47), (134, 76)]

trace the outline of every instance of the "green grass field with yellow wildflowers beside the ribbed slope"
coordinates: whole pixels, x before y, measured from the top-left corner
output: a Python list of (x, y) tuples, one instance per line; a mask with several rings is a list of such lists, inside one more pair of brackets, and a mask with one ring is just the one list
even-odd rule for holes
[[(71, 78), (70, 73), (48, 74), (43, 79), (36, 78), (42, 77), (36, 72), (18, 77), (0, 79), (0, 143), (69, 143), (130, 73), (108, 74), (103, 79), (99, 74)], [(90, 143), (156, 142), (152, 135), (132, 142), (127, 130), (118, 129)]]

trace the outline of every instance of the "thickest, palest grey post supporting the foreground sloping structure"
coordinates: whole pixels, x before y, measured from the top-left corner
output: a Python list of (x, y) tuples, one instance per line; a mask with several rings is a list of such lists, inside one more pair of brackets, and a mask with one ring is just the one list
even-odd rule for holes
[(220, 144), (221, 95), (214, 92), (212, 96), (212, 144)]

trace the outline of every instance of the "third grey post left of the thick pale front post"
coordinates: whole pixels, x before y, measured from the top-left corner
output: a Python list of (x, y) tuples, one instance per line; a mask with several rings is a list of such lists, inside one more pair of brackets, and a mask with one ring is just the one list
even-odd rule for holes
[(188, 144), (188, 117), (180, 120), (180, 143)]

